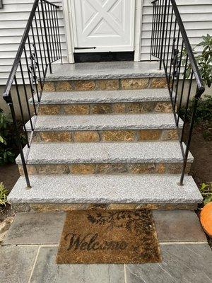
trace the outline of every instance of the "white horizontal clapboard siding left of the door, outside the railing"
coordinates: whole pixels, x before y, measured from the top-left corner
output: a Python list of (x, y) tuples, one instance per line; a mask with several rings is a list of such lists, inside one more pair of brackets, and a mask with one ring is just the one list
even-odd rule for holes
[[(51, 2), (61, 6), (61, 0)], [(34, 0), (4, 0), (4, 8), (0, 9), (0, 85), (5, 85), (7, 81), (33, 3)], [(59, 11), (59, 27), (62, 54), (66, 57), (62, 7)], [(25, 70), (25, 66), (23, 69)], [(20, 77), (20, 74), (17, 74), (17, 77)]]

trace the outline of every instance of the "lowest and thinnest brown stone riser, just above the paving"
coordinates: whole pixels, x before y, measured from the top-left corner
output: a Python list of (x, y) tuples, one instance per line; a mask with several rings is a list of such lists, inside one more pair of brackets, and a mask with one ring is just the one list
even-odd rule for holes
[(15, 212), (69, 212), (73, 210), (92, 210), (92, 209), (107, 209), (107, 210), (131, 210), (131, 209), (151, 209), (151, 210), (194, 210), (197, 204), (133, 204), (133, 203), (111, 203), (111, 204), (91, 204), (91, 203), (12, 203), (13, 211)]

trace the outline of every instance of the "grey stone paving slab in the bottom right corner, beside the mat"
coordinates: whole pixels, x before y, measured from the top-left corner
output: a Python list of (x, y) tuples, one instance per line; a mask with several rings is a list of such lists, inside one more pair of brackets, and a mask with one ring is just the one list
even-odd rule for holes
[(212, 251), (207, 244), (162, 245), (162, 263), (125, 265), (126, 283), (210, 283)]

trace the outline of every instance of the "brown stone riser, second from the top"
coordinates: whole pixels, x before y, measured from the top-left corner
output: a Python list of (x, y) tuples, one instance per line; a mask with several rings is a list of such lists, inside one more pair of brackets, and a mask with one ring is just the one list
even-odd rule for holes
[(172, 112), (170, 101), (134, 103), (41, 104), (39, 115), (139, 114)]

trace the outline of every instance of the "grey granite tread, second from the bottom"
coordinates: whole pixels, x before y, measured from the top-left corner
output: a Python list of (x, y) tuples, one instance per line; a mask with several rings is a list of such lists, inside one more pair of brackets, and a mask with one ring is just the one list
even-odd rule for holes
[[(28, 147), (25, 146), (25, 152)], [(179, 163), (182, 162), (179, 141), (33, 143), (28, 164), (61, 163)], [(193, 161), (189, 154), (188, 162)], [(16, 158), (20, 164), (20, 156)]]

